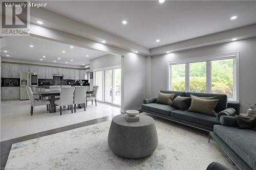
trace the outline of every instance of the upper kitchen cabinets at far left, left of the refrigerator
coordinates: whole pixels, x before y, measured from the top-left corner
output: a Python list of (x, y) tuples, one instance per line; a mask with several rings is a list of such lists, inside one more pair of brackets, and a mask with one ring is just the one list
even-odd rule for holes
[(3, 78), (19, 78), (20, 66), (16, 64), (2, 64), (2, 77)]

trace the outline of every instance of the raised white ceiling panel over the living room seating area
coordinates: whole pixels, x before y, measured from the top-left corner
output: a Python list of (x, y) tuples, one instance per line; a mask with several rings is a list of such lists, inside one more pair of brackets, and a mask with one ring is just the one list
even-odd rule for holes
[[(256, 23), (256, 1), (47, 2), (48, 10), (147, 48)], [(238, 18), (230, 20), (234, 15)]]

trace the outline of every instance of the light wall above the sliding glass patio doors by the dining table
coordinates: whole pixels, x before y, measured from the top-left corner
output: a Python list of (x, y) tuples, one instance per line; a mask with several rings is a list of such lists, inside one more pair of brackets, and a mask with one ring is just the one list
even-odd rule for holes
[[(115, 66), (115, 65), (121, 66), (121, 56), (108, 54), (108, 55), (91, 59), (90, 71), (94, 71), (95, 69), (100, 69), (104, 67)], [(93, 88), (93, 85), (94, 85), (94, 79), (90, 79), (90, 89)]]

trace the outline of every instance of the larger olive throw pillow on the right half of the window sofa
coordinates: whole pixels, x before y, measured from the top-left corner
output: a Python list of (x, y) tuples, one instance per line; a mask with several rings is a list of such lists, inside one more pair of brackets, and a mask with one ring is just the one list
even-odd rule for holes
[(191, 106), (188, 108), (188, 111), (216, 116), (214, 109), (216, 108), (218, 102), (219, 99), (200, 99), (191, 95)]

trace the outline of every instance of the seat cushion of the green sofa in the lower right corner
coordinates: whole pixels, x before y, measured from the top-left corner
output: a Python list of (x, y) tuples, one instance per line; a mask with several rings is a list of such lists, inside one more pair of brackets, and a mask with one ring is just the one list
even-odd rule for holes
[(214, 132), (252, 169), (256, 169), (256, 131), (216, 125)]

